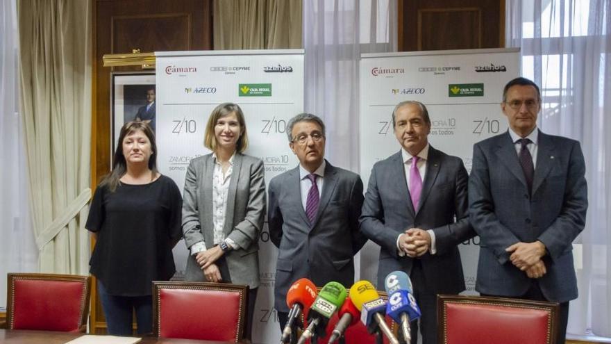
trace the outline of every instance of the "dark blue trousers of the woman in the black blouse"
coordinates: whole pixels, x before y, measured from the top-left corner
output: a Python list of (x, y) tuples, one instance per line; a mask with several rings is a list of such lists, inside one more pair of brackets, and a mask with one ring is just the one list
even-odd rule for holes
[(118, 296), (106, 293), (101, 281), (97, 281), (100, 301), (106, 317), (106, 332), (116, 336), (132, 336), (133, 312), (136, 313), (138, 334), (153, 331), (153, 298), (144, 296)]

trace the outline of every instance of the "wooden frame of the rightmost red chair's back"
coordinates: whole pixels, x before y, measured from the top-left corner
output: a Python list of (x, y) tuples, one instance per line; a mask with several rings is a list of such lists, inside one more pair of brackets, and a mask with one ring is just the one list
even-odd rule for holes
[(536, 309), (549, 313), (549, 321), (547, 325), (547, 343), (555, 343), (558, 327), (558, 317), (560, 314), (560, 306), (555, 302), (533, 301), (512, 299), (508, 297), (492, 297), (492, 296), (466, 296), (466, 295), (437, 295), (437, 343), (446, 344), (448, 338), (447, 332), (447, 313), (446, 304), (481, 304), (492, 306), (506, 306), (520, 309)]

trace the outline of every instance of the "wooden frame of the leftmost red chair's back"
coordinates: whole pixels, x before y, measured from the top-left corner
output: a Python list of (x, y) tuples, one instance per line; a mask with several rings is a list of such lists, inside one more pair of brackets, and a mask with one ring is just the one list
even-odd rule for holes
[(59, 274), (39, 274), (39, 273), (9, 273), (7, 275), (6, 288), (6, 328), (13, 329), (14, 327), (14, 311), (15, 311), (15, 281), (30, 279), (40, 281), (69, 281), (81, 282), (84, 284), (84, 293), (81, 295), (81, 311), (78, 321), (78, 330), (85, 332), (87, 330), (87, 317), (89, 316), (89, 306), (91, 297), (91, 277), (80, 275), (59, 275)]

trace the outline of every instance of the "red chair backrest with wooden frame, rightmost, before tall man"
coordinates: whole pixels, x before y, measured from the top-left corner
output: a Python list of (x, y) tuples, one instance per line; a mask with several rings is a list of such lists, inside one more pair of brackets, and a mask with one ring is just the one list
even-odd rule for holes
[(438, 295), (438, 343), (555, 343), (558, 311), (554, 302)]

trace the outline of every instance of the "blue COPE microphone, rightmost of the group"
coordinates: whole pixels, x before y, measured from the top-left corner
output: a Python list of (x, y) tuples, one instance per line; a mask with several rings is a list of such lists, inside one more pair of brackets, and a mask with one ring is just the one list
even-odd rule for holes
[(420, 318), (421, 314), (412, 295), (412, 281), (405, 272), (393, 271), (386, 277), (384, 286), (388, 293), (386, 315), (401, 325), (405, 342), (409, 343), (412, 338), (410, 321)]

